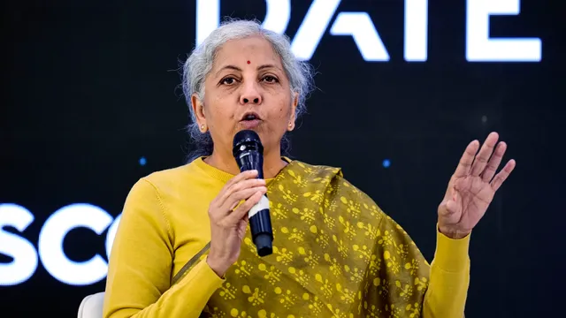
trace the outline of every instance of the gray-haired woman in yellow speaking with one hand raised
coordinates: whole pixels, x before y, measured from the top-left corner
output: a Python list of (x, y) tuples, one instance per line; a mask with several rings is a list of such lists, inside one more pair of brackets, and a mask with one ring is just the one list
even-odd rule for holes
[[(495, 175), (506, 150), (496, 133), (465, 149), (438, 208), (429, 266), (340, 169), (282, 156), (310, 87), (310, 68), (286, 37), (252, 21), (225, 23), (187, 59), (183, 87), (201, 153), (129, 193), (104, 317), (463, 316), (470, 231), (515, 167)], [(240, 173), (233, 159), (242, 129), (262, 140), (265, 179)], [(264, 193), (273, 254), (259, 257), (247, 213)]]

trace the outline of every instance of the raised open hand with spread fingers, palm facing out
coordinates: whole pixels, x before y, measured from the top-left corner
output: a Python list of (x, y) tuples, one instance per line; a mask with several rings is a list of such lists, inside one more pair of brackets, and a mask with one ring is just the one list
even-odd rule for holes
[(439, 231), (448, 238), (462, 239), (470, 233), (486, 214), (495, 192), (515, 168), (515, 160), (509, 160), (495, 175), (507, 149), (505, 142), (497, 143), (498, 139), (497, 133), (490, 133), (479, 153), (479, 141), (471, 141), (450, 178), (439, 206), (438, 223)]

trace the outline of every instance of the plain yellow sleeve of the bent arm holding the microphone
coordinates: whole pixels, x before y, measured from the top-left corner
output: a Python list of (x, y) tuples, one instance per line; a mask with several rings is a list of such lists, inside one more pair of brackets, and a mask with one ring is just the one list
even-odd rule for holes
[(171, 287), (172, 258), (164, 206), (142, 178), (126, 198), (112, 245), (103, 317), (198, 317), (224, 280), (204, 258)]

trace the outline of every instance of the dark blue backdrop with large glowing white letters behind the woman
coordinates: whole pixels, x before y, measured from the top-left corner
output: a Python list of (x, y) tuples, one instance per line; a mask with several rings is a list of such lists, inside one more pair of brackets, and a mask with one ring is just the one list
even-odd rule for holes
[[(468, 8), (465, 0), (407, 2), (417, 26), (409, 42), (427, 35), (421, 62), (404, 58), (403, 1), (338, 1), (310, 59), (317, 90), (292, 135), (292, 154), (342, 167), (432, 260), (436, 208), (463, 148), (501, 133), (506, 159), (515, 158), (517, 167), (473, 233), (466, 316), (557, 314), (566, 212), (560, 11), (549, 1), (523, 0), (520, 14), (489, 19), (493, 38), (539, 39), (538, 61), (537, 47), (490, 53), (478, 42), (467, 46), (467, 36), (481, 35), (485, 25), (481, 14), (470, 13), (482, 2), (471, 1)], [(220, 3), (222, 16), (263, 20), (268, 2)], [(311, 3), (290, 2), (292, 39)], [(366, 61), (353, 37), (333, 35), (342, 12), (360, 11), (388, 61)], [(317, 12), (313, 21), (324, 21)], [(196, 3), (11, 1), (2, 15), (0, 313), (74, 316), (83, 297), (103, 291), (109, 227), (130, 187), (152, 171), (183, 164), (190, 149), (177, 69), (195, 45)], [(214, 22), (206, 17), (202, 23)], [(419, 21), (427, 21), (425, 32)], [(360, 30), (358, 44), (379, 57), (383, 51), (368, 40), (371, 28)], [(467, 48), (508, 61), (469, 61)], [(74, 203), (90, 206), (49, 219)]]

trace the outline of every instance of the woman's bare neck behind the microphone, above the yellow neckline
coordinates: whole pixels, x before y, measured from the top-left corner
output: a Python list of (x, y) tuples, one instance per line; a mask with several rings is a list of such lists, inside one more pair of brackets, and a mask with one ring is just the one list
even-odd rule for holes
[[(264, 151), (264, 178), (274, 178), (279, 171), (283, 169), (287, 163), (281, 159), (281, 151)], [(214, 145), (212, 155), (204, 159), (205, 163), (210, 164), (212, 167), (228, 172), (232, 175), (240, 173), (238, 163), (233, 158), (231, 151), (223, 151)]]

